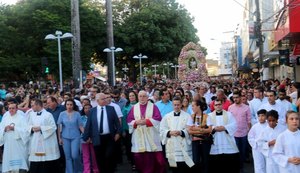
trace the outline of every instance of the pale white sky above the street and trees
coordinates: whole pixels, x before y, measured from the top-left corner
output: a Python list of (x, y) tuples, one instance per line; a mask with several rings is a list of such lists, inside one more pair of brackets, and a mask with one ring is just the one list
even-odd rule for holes
[[(0, 0), (14, 4), (17, 0)], [(177, 0), (194, 17), (200, 44), (207, 48), (209, 59), (217, 59), (221, 42), (233, 41), (234, 32), (241, 24), (245, 0)]]

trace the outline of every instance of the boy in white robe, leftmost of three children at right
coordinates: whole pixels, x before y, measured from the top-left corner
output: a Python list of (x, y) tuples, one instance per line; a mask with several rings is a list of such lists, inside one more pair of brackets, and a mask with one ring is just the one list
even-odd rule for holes
[(266, 121), (267, 111), (265, 109), (261, 109), (257, 111), (258, 120), (256, 124), (254, 124), (249, 133), (248, 133), (248, 141), (250, 146), (252, 147), (252, 155), (254, 161), (254, 171), (255, 173), (265, 173), (266, 172), (266, 160), (264, 155), (259, 151), (257, 139), (262, 131), (268, 126)]

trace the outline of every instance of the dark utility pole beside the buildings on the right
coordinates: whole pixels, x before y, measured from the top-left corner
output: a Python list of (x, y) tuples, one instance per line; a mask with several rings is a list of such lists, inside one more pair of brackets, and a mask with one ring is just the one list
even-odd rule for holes
[(256, 23), (255, 23), (255, 33), (256, 33), (256, 46), (259, 50), (259, 74), (260, 74), (260, 82), (263, 81), (263, 57), (264, 57), (264, 39), (261, 32), (262, 23), (261, 23), (261, 17), (260, 17), (260, 8), (259, 8), (259, 0), (255, 0), (256, 5)]

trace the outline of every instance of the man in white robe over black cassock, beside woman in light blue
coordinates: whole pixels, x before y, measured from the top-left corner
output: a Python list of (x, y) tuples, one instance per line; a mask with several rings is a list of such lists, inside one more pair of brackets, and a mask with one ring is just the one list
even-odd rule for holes
[(30, 173), (53, 173), (57, 170), (57, 159), (60, 157), (56, 124), (51, 113), (43, 108), (43, 102), (34, 101), (32, 109), (35, 114), (29, 114), (27, 128), (31, 132), (29, 143)]

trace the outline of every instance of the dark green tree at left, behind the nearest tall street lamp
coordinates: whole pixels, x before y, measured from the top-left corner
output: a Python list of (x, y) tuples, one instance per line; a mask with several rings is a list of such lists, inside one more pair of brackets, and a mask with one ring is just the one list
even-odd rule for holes
[[(95, 3), (93, 3), (95, 4)], [(82, 64), (89, 70), (90, 59), (101, 59), (105, 45), (104, 15), (89, 0), (80, 2)], [(10, 80), (30, 80), (44, 76), (41, 58), (47, 57), (49, 69), (58, 76), (57, 41), (44, 40), (56, 30), (70, 32), (69, 0), (23, 0), (16, 5), (0, 5), (0, 69)], [(72, 75), (71, 41), (62, 40), (64, 79)], [(96, 54), (95, 54), (96, 53)], [(19, 75), (24, 74), (24, 75)]]

